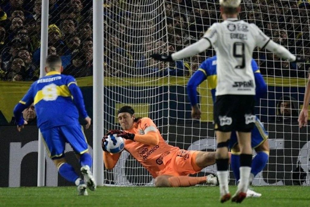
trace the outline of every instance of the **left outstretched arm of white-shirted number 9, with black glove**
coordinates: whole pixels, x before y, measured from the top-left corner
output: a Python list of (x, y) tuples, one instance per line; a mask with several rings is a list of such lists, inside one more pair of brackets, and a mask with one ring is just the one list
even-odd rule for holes
[(151, 57), (160, 60), (160, 61), (174, 61), (179, 60), (187, 57), (191, 57), (198, 53), (201, 53), (208, 49), (211, 46), (209, 40), (206, 38), (202, 38), (199, 41), (195, 42), (194, 44), (185, 47), (183, 50), (178, 52), (172, 53), (171, 55), (162, 55), (162, 54), (152, 54)]

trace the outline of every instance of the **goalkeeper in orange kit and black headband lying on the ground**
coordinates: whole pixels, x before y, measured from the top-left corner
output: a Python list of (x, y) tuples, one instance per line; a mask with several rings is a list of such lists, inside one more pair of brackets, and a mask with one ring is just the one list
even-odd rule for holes
[(118, 110), (121, 130), (110, 130), (102, 139), (103, 159), (107, 169), (113, 169), (121, 152), (109, 153), (105, 146), (109, 134), (125, 139), (125, 150), (141, 163), (155, 178), (156, 187), (187, 187), (197, 184), (217, 185), (217, 177), (189, 177), (215, 164), (215, 152), (188, 151), (171, 146), (162, 138), (157, 126), (148, 118), (136, 118), (130, 106)]

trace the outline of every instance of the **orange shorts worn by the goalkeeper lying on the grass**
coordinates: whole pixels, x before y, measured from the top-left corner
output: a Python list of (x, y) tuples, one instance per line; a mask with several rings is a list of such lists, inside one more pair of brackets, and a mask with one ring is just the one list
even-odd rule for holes
[(159, 175), (187, 176), (195, 174), (202, 169), (196, 164), (196, 155), (199, 151), (179, 150), (171, 157), (171, 160), (166, 163)]

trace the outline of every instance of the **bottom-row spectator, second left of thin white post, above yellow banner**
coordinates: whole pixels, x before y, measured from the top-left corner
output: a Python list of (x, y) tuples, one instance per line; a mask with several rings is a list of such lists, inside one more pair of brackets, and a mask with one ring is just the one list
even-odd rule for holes
[(25, 63), (20, 58), (15, 58), (11, 61), (11, 67), (6, 73), (7, 81), (23, 81), (25, 74)]

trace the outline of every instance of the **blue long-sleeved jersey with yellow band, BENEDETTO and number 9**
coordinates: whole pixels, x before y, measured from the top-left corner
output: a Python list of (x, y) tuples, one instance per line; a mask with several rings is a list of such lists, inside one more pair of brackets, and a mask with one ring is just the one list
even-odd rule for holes
[(81, 90), (72, 76), (52, 71), (33, 82), (28, 92), (15, 106), (14, 115), (19, 126), (21, 112), (31, 103), (37, 113), (38, 128), (43, 131), (56, 126), (79, 124), (79, 112), (87, 117)]

